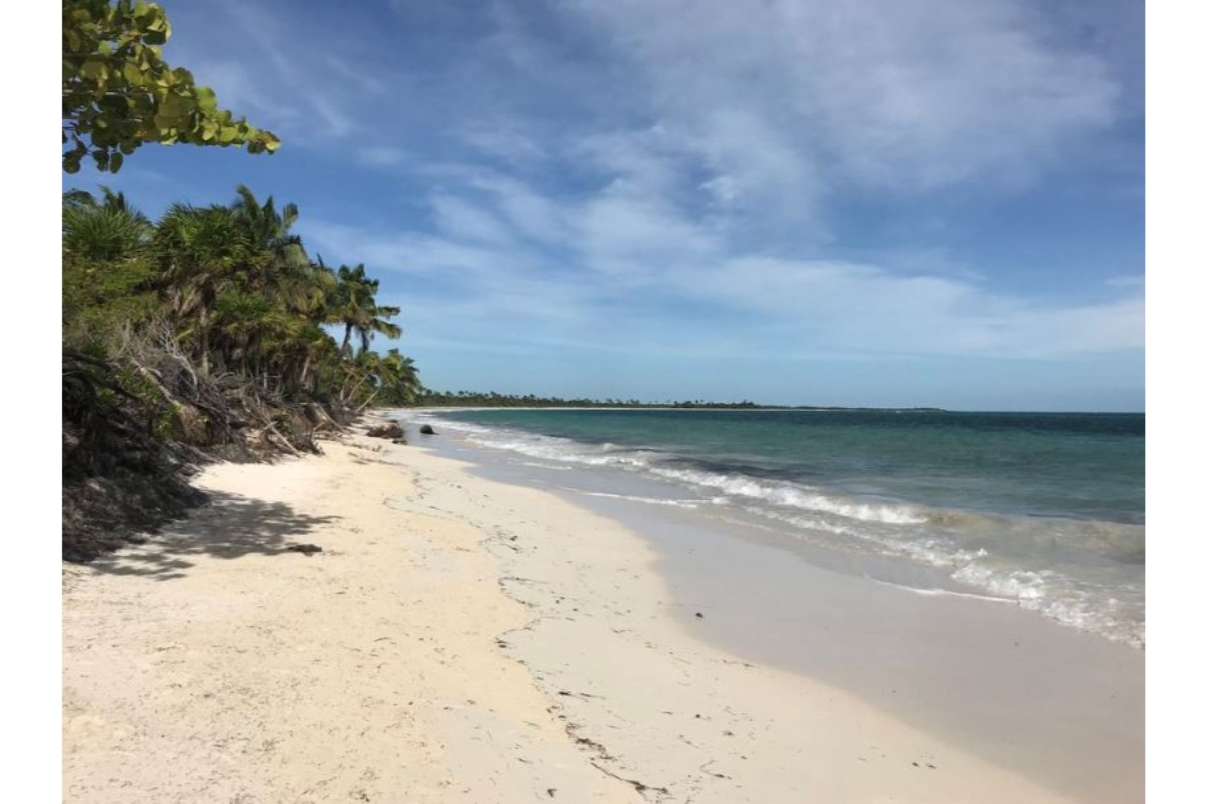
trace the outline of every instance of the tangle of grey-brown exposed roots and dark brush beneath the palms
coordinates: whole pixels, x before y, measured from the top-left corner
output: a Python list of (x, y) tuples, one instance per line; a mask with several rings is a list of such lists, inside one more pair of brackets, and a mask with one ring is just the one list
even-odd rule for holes
[(86, 562), (205, 501), (211, 460), (318, 452), (351, 416), (234, 374), (204, 376), (170, 338), (124, 338), (112, 358), (63, 352), (63, 558)]

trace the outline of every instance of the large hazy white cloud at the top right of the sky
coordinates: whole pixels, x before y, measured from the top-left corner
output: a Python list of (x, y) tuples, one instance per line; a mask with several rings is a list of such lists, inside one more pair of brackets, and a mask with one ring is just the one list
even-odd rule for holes
[(1096, 57), (1008, 0), (579, 0), (731, 186), (808, 201), (1031, 175), (1116, 117)]

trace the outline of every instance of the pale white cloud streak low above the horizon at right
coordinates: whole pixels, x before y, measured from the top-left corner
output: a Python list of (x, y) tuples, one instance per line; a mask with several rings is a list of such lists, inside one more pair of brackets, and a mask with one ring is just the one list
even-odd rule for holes
[(879, 266), (739, 258), (675, 274), (681, 293), (739, 305), (822, 350), (1054, 357), (1143, 346), (1143, 301), (1053, 304)]

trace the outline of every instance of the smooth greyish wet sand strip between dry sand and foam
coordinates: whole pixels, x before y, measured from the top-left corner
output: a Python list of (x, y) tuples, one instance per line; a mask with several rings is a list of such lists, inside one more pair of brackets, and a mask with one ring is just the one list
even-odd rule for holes
[[(541, 473), (455, 438), (423, 444), (482, 476), (544, 486), (625, 523), (656, 551), (684, 621), (725, 650), (845, 689), (1078, 800), (1143, 800), (1142, 650), (989, 599), (932, 568), (801, 544), (707, 506), (597, 493), (674, 497), (644, 481)], [(568, 491), (575, 486), (596, 491)]]

